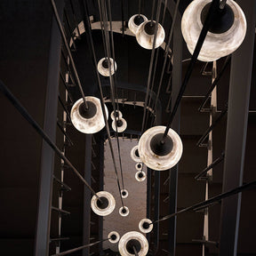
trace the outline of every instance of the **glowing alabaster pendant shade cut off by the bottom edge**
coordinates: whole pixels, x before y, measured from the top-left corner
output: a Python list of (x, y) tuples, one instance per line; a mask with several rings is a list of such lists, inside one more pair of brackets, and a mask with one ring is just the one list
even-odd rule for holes
[(139, 256), (146, 256), (148, 253), (148, 240), (140, 232), (131, 231), (121, 237), (118, 250), (122, 256), (135, 255), (133, 247)]

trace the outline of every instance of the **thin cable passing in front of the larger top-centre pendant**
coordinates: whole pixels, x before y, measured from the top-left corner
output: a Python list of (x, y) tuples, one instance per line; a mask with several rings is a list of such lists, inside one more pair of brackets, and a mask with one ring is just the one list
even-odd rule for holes
[[(154, 2), (155, 2), (155, 0), (154, 0)], [(151, 52), (149, 71), (148, 71), (148, 85), (147, 85), (147, 92), (146, 92), (144, 109), (143, 109), (141, 134), (144, 132), (144, 128), (145, 128), (146, 110), (147, 110), (147, 107), (148, 107), (148, 94), (149, 94), (149, 89), (150, 89), (149, 86), (150, 86), (150, 82), (151, 82), (152, 68), (153, 68), (153, 62), (154, 62), (154, 57), (155, 57), (156, 33), (157, 33), (157, 30), (158, 30), (158, 20), (159, 20), (159, 16), (160, 16), (160, 11), (161, 11), (161, 2), (159, 1), (158, 5), (157, 5), (157, 11), (156, 11), (156, 23), (155, 23), (155, 30), (154, 30), (153, 48), (152, 48), (152, 52)]]

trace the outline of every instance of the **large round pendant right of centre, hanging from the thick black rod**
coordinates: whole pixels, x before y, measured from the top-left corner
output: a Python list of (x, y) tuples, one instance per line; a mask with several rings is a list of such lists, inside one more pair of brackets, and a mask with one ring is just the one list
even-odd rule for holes
[(151, 127), (142, 134), (139, 140), (139, 152), (141, 161), (149, 168), (156, 171), (165, 171), (171, 169), (175, 164), (178, 164), (180, 157), (182, 156), (182, 141), (180, 140), (178, 133), (173, 131), (171, 128), (167, 133), (168, 140), (165, 141), (172, 143), (172, 150), (167, 150), (167, 152), (164, 152), (164, 154), (158, 155), (153, 152), (151, 148), (151, 141), (153, 138), (156, 138), (156, 135), (159, 135), (159, 138), (162, 138), (165, 128), (165, 126), (161, 125)]

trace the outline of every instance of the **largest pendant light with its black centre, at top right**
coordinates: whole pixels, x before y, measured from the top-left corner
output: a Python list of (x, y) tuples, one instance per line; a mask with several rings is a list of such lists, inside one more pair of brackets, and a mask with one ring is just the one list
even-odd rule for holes
[[(183, 13), (181, 31), (191, 54), (195, 50), (211, 2), (211, 0), (194, 0)], [(218, 60), (235, 52), (244, 41), (246, 20), (244, 12), (235, 1), (228, 0), (224, 8), (217, 10), (214, 15), (198, 60)]]

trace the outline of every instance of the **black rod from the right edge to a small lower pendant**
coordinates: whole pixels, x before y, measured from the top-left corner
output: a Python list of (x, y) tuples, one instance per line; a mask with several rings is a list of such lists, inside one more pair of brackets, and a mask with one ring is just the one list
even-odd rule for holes
[(219, 202), (219, 201), (222, 200), (223, 198), (226, 198), (226, 197), (228, 197), (228, 196), (236, 195), (237, 193), (240, 193), (240, 192), (242, 192), (242, 191), (244, 191), (244, 190), (253, 188), (253, 187), (255, 187), (255, 186), (256, 186), (256, 180), (254, 180), (254, 181), (252, 181), (252, 182), (249, 182), (249, 183), (247, 183), (247, 184), (244, 184), (243, 186), (237, 187), (237, 188), (235, 188), (235, 189), (231, 189), (231, 190), (229, 190), (229, 191), (226, 192), (226, 193), (222, 193), (222, 194), (220, 194), (220, 195), (218, 195), (218, 196), (214, 196), (214, 197), (212, 197), (212, 198), (210, 198), (210, 199), (208, 199), (208, 200), (205, 200), (205, 201), (203, 201), (203, 202), (200, 202), (200, 203), (198, 203), (198, 204), (191, 205), (191, 206), (189, 206), (189, 207), (187, 207), (187, 208), (184, 208), (184, 209), (180, 210), (179, 212), (175, 212), (175, 213), (172, 213), (172, 214), (170, 214), (170, 215), (166, 215), (166, 216), (164, 216), (163, 218), (161, 218), (161, 219), (159, 219), (159, 220), (153, 221), (153, 222), (150, 223), (149, 225), (155, 224), (155, 223), (160, 222), (160, 221), (169, 220), (169, 219), (171, 219), (172, 217), (177, 216), (178, 214), (183, 213), (183, 212), (188, 212), (188, 211), (191, 211), (191, 210), (192, 210), (192, 211), (195, 211), (195, 210), (198, 209), (199, 207), (200, 207), (201, 209), (206, 208), (206, 207), (208, 207), (209, 205), (214, 204), (215, 202)]

